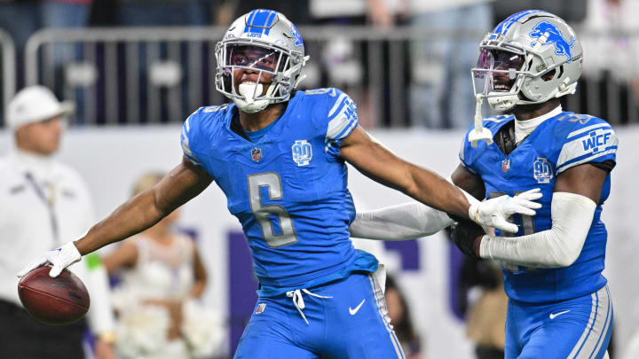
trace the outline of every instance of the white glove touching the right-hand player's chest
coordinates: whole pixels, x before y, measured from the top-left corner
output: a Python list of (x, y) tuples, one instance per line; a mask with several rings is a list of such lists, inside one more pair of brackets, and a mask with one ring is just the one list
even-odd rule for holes
[(508, 218), (514, 214), (535, 215), (533, 208), (541, 208), (541, 204), (533, 202), (542, 196), (540, 189), (525, 191), (515, 197), (501, 196), (495, 199), (487, 199), (469, 207), (469, 217), (477, 224), (485, 227), (493, 227), (517, 233), (517, 225), (508, 222)]

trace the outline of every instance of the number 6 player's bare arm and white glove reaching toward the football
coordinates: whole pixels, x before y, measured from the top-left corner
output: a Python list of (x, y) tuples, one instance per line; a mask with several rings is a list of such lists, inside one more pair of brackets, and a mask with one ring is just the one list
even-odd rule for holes
[(106, 219), (91, 227), (83, 238), (47, 252), (43, 257), (29, 263), (18, 276), (24, 276), (31, 269), (45, 262), (51, 262), (53, 268), (49, 275), (56, 277), (62, 269), (75, 261), (80, 261), (82, 255), (129, 238), (160, 222), (177, 207), (204, 191), (212, 181), (208, 173), (195, 167), (190, 160), (183, 158), (182, 163), (164, 176), (160, 183), (115, 209)]

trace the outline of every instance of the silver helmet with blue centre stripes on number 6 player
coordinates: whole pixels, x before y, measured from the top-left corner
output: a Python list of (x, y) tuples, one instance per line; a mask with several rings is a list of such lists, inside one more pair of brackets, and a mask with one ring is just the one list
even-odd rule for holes
[(256, 113), (288, 101), (309, 57), (293, 23), (280, 12), (257, 9), (233, 21), (217, 43), (216, 59), (216, 89), (242, 111)]

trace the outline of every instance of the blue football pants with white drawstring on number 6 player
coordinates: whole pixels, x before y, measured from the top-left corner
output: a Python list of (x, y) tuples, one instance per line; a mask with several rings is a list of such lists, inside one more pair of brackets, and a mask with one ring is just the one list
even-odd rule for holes
[(289, 293), (301, 296), (297, 306), (286, 294), (258, 298), (234, 358), (404, 359), (390, 326), (380, 267)]

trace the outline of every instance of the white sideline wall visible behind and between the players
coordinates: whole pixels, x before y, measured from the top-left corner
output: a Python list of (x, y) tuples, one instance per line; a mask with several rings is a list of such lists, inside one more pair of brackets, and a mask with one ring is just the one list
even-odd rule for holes
[[(126, 127), (69, 129), (59, 152), (59, 160), (73, 166), (89, 184), (99, 219), (128, 199), (133, 181), (149, 170), (168, 171), (181, 160), (180, 127)], [(375, 130), (372, 134), (406, 160), (449, 176), (459, 160), (457, 152), (463, 136), (459, 131), (426, 129)], [(609, 230), (608, 255), (604, 274), (610, 280), (615, 306), (614, 333), (619, 352), (630, 335), (639, 329), (639, 241), (635, 222), (639, 207), (629, 206), (639, 199), (639, 127), (618, 130), (618, 165), (612, 173), (611, 196), (604, 205), (604, 222)], [(6, 130), (0, 131), (0, 154), (12, 147)], [(409, 200), (398, 191), (383, 188), (351, 168), (350, 189), (361, 209), (372, 209)], [(227, 303), (227, 249), (229, 229), (241, 230), (226, 210), (225, 196), (213, 184), (184, 207), (182, 222), (199, 230), (201, 254), (209, 269), (209, 290), (205, 300), (225, 311)], [(67, 238), (71, 240), (73, 238)], [(399, 268), (398, 257), (375, 241), (357, 240), (387, 263)], [(108, 249), (106, 249), (108, 250)], [(448, 300), (448, 243), (443, 236), (419, 239), (419, 270), (398, 274), (398, 284), (411, 305), (414, 324), (422, 334), (422, 347), (429, 358), (468, 358), (472, 346), (465, 339), (464, 324), (454, 317)], [(450, 345), (455, 343), (455, 345)]]

